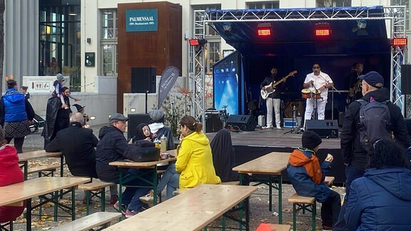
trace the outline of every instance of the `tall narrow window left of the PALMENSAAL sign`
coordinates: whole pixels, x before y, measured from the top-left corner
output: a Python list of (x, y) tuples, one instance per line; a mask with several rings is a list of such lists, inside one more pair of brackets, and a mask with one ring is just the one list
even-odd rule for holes
[(101, 75), (117, 76), (117, 11), (101, 11)]

